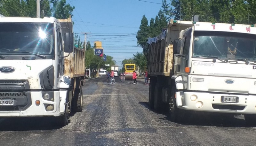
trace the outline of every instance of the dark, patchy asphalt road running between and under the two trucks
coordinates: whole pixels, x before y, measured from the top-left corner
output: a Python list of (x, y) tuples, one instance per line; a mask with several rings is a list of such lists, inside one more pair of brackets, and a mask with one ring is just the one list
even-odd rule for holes
[[(123, 80), (123, 79), (122, 79)], [(86, 81), (84, 109), (70, 115), (65, 127), (51, 118), (0, 119), (3, 146), (254, 146), (256, 128), (243, 115), (191, 115), (173, 123), (168, 113), (148, 109), (148, 88), (106, 78)]]

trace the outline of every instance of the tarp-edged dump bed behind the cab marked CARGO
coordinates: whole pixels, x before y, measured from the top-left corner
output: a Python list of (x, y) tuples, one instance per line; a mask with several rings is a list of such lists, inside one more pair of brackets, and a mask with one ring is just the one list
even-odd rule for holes
[(173, 66), (173, 42), (179, 39), (181, 30), (192, 27), (190, 21), (171, 19), (168, 28), (154, 38), (148, 38), (148, 74), (170, 76)]

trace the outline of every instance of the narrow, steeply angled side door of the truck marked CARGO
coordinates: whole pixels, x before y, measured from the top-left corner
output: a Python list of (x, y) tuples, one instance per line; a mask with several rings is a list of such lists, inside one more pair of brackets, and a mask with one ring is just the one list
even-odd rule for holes
[(180, 74), (182, 75), (183, 79), (183, 88), (187, 89), (187, 83), (188, 83), (188, 73), (185, 72), (185, 68), (189, 67), (188, 65), (188, 58), (189, 58), (189, 48), (190, 48), (190, 41), (191, 41), (191, 34), (192, 34), (192, 27), (188, 28), (183, 36), (182, 36), (182, 52), (181, 54), (183, 55), (184, 59), (180, 60)]

